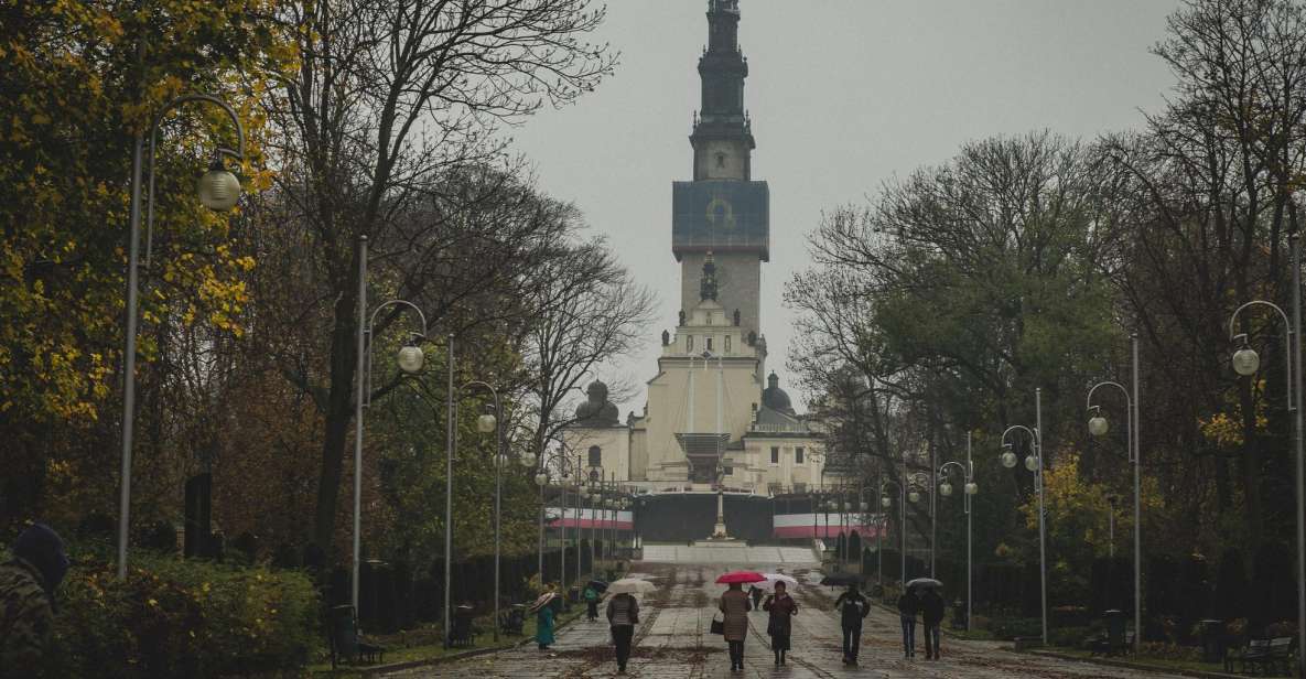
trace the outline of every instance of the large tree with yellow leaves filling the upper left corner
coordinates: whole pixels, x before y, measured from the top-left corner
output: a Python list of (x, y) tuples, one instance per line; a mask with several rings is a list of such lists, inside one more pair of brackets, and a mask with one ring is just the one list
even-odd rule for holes
[[(46, 471), (110, 486), (121, 383), (131, 145), (163, 102), (206, 91), (236, 104), (251, 132), (248, 188), (264, 123), (251, 99), (293, 48), (273, 0), (189, 3), (47, 0), (0, 8), (0, 521), (40, 505)], [(253, 260), (227, 217), (199, 205), (210, 140), (230, 134), (187, 110), (161, 131), (153, 266), (141, 270), (148, 362), (167, 351), (157, 329), (208, 324), (239, 333), (242, 276)]]

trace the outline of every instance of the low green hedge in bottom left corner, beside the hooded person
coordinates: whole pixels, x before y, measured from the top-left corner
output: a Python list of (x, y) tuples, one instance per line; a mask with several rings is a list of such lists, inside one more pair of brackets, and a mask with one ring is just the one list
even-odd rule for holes
[(46, 676), (221, 676), (303, 667), (323, 644), (312, 581), (295, 571), (132, 555), (74, 559), (59, 589)]

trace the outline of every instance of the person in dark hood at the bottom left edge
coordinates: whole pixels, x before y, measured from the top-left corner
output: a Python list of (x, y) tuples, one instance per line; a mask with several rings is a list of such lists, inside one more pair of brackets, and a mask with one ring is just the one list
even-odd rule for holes
[(27, 526), (10, 552), (0, 564), (0, 676), (26, 676), (46, 652), (68, 556), (64, 541), (44, 524)]

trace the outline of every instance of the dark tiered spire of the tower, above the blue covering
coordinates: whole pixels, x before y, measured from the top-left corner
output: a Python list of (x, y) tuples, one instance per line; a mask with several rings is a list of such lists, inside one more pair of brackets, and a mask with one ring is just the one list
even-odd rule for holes
[(708, 0), (708, 48), (699, 57), (700, 115), (693, 123), (693, 179), (752, 175), (752, 124), (743, 107), (748, 59), (739, 48), (739, 0)]

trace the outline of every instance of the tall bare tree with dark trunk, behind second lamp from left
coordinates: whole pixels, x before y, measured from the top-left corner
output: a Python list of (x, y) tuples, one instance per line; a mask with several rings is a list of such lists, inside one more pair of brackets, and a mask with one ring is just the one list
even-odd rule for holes
[[(428, 226), (469, 235), (477, 192), (445, 195), (436, 209), (432, 187), (453, 168), (496, 157), (498, 123), (568, 103), (610, 73), (615, 57), (606, 46), (584, 42), (603, 16), (588, 0), (337, 0), (285, 9), (299, 63), (268, 111), (281, 134), (278, 189), (307, 226), (307, 255), (321, 276), (315, 298), (330, 304), (324, 375), (287, 371), (320, 393), (325, 418), (313, 529), (323, 548), (332, 547), (353, 415), (359, 236), (393, 245), (397, 225), (423, 212), (434, 213)], [(490, 230), (481, 226), (470, 231)], [(422, 276), (379, 273), (400, 281), (396, 291), (410, 299), (428, 286)]]

